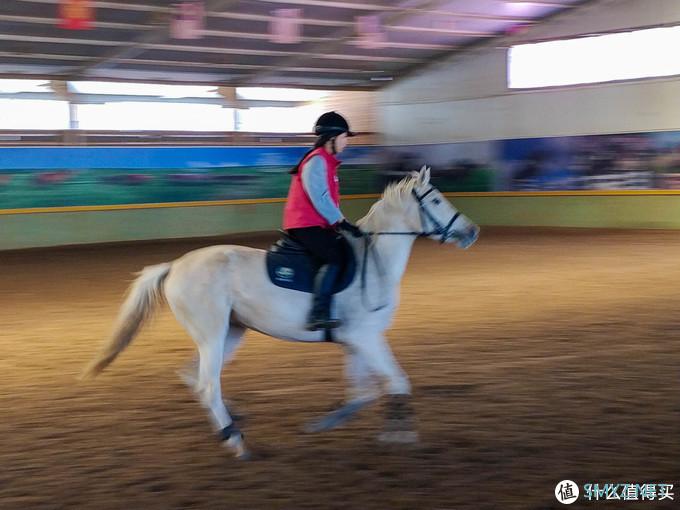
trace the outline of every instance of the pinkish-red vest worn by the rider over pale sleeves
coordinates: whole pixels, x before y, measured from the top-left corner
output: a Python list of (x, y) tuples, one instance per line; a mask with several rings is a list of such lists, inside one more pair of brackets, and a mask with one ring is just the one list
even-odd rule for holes
[(333, 203), (340, 207), (340, 183), (338, 182), (338, 166), (340, 161), (323, 147), (309, 153), (300, 163), (300, 170), (293, 174), (288, 190), (286, 207), (283, 210), (283, 228), (330, 227), (326, 219), (314, 208), (304, 186), (302, 185), (302, 167), (314, 156), (320, 156), (326, 162), (326, 178), (328, 190)]

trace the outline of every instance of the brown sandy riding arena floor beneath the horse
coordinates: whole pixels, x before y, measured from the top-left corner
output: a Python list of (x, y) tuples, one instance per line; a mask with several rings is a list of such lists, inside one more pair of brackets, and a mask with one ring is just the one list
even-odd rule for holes
[(193, 343), (167, 308), (99, 379), (75, 380), (130, 274), (201, 244), (0, 253), (2, 510), (538, 510), (562, 507), (563, 479), (676, 486), (673, 502), (569, 508), (680, 506), (680, 233), (418, 242), (389, 337), (421, 444), (378, 444), (380, 406), (301, 433), (343, 395), (341, 349), (248, 333), (223, 388), (250, 463), (220, 450), (176, 376)]

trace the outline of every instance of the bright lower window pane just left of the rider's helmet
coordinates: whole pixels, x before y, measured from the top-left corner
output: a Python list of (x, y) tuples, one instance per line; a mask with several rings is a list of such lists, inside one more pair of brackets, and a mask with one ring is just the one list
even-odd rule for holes
[(311, 133), (321, 115), (320, 105), (297, 108), (249, 108), (239, 110), (239, 131), (251, 133)]

